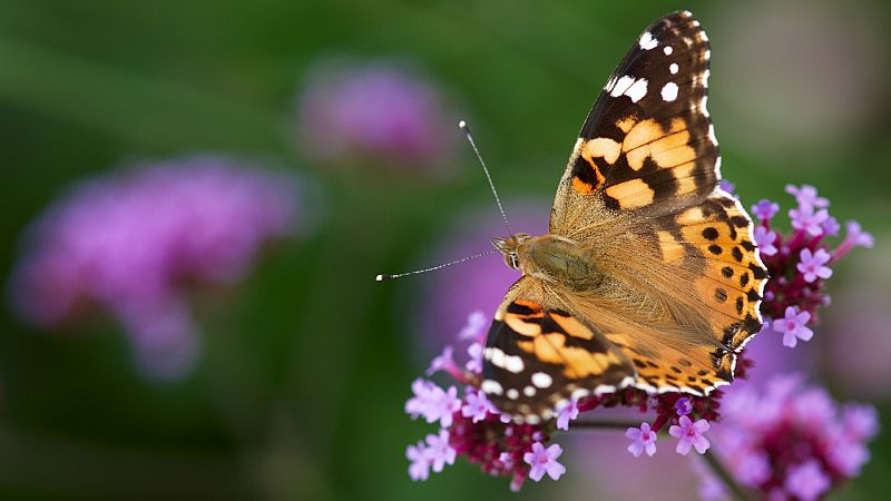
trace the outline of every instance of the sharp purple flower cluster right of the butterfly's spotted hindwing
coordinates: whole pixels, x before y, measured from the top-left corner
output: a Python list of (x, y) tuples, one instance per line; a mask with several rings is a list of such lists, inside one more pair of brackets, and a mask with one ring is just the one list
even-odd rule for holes
[(854, 246), (872, 247), (873, 238), (852, 220), (845, 225), (846, 235), (841, 244), (830, 247), (825, 240), (838, 236), (841, 225), (829, 214), (829, 200), (810, 185), (789, 185), (786, 193), (797, 203), (789, 210), (792, 223), (789, 234), (773, 227), (779, 204), (762, 199), (752, 206), (752, 214), (758, 219), (755, 242), (771, 275), (762, 313), (777, 320), (773, 330), (783, 335), (784, 345), (792, 347), (799, 340), (810, 340), (812, 332), (804, 325), (816, 322), (817, 307), (829, 303), (823, 284), (832, 276), (832, 264)]

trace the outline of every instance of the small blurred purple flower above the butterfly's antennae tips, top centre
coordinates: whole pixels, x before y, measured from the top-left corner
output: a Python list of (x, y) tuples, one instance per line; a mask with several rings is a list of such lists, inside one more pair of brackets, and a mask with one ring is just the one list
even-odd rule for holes
[(301, 145), (326, 164), (442, 171), (458, 120), (442, 91), (393, 60), (323, 59), (298, 98)]

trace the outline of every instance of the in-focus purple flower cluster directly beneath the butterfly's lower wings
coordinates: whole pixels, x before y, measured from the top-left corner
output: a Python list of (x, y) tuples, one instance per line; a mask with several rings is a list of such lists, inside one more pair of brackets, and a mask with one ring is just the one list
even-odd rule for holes
[[(566, 468), (557, 462), (562, 449), (557, 444), (546, 448), (546, 444), (557, 430), (569, 430), (571, 421), (597, 407), (621, 406), (655, 414), (653, 424), (645, 422), (626, 432), (626, 436), (631, 440), (628, 451), (636, 456), (643, 452), (648, 455), (656, 453), (656, 435), (665, 426), (669, 426), (669, 434), (677, 439), (677, 453), (686, 455), (691, 449), (695, 449), (702, 454), (708, 449), (708, 440), (703, 433), (708, 430), (709, 420), (719, 418), (717, 409), (721, 391), (696, 397), (679, 393), (654, 395), (642, 390), (626, 389), (617, 393), (574, 400), (560, 409), (556, 419), (549, 422), (515, 423), (509, 416), (500, 414), (478, 387), (482, 372), (483, 318), (481, 312), (471, 313), (458, 336), (459, 343), (469, 342), (466, 348), (467, 361), (463, 364), (454, 361), (454, 346), (447, 346), (442, 354), (433, 358), (427, 371), (428, 375), (435, 372), (448, 373), (464, 386), (463, 396), (459, 397), (459, 390), (454, 385), (443, 389), (424, 379), (412, 383), (412, 396), (405, 402), (405, 413), (412, 419), (423, 418), (428, 423), (438, 423), (440, 435), (448, 436), (450, 444), (448, 451), (437, 452), (440, 455), (430, 452), (431, 446), (425, 446), (422, 442), (410, 445), (405, 455), (411, 461), (409, 475), (413, 480), (425, 480), (431, 465), (439, 464), (433, 463), (431, 458), (454, 455), (480, 464), (484, 473), (510, 477), (510, 487), (513, 490), (518, 490), (526, 479), (538, 482), (545, 473), (557, 480), (566, 472)], [(746, 366), (745, 361), (737, 364), (737, 376), (745, 376)], [(691, 416), (696, 416), (696, 421)], [(429, 435), (428, 444), (431, 436), (437, 435)]]

